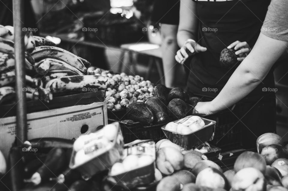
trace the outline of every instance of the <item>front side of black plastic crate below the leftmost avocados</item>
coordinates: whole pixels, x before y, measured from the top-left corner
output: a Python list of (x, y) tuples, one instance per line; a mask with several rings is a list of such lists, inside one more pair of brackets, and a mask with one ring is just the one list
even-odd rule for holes
[[(126, 116), (122, 120), (126, 120)], [(130, 143), (137, 139), (147, 140), (152, 139), (157, 143), (161, 139), (166, 138), (161, 127), (167, 123), (160, 123), (151, 126), (143, 126), (141, 123), (122, 123), (118, 120), (108, 119), (108, 123), (119, 122), (121, 131), (124, 137), (124, 143)]]

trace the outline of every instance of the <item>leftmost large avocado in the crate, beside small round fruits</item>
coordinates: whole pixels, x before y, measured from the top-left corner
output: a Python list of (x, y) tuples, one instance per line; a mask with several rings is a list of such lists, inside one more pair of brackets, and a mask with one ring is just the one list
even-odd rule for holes
[(140, 122), (143, 125), (150, 125), (154, 121), (152, 108), (143, 102), (133, 102), (126, 109), (127, 117), (130, 120)]

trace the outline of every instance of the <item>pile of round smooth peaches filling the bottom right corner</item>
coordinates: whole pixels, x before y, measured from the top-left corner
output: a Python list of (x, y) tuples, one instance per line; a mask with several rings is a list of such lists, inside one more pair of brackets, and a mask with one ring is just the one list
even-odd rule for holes
[(288, 145), (283, 147), (281, 137), (274, 133), (261, 135), (256, 142), (258, 153), (241, 153), (234, 169), (225, 172), (202, 153), (189, 151), (182, 155), (175, 145), (161, 147), (164, 143), (156, 144), (157, 168), (167, 175), (158, 183), (157, 191), (288, 190)]

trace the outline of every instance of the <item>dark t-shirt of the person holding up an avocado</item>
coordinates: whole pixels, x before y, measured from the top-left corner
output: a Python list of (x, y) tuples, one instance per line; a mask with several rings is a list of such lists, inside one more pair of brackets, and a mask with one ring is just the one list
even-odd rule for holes
[[(253, 47), (265, 19), (269, 0), (195, 1), (199, 18), (198, 43), (207, 51), (193, 56), (187, 81), (188, 91), (216, 97), (236, 67), (220, 67), (220, 52), (235, 41), (246, 41)], [(240, 63), (240, 62), (239, 62)], [(238, 63), (238, 64), (239, 64)], [(263, 87), (274, 87), (274, 76), (269, 72), (263, 83), (249, 94), (262, 96)], [(215, 91), (217, 90), (217, 91)]]

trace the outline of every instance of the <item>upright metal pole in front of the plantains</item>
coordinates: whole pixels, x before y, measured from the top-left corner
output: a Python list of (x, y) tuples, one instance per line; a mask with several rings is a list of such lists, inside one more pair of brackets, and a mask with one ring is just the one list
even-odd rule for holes
[(14, 20), (14, 48), (15, 48), (15, 73), (16, 73), (16, 120), (17, 120), (17, 145), (27, 140), (27, 113), (26, 92), (22, 91), (25, 82), (25, 44), (24, 44), (24, 1), (13, 0)]

